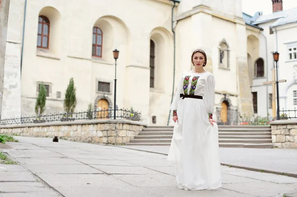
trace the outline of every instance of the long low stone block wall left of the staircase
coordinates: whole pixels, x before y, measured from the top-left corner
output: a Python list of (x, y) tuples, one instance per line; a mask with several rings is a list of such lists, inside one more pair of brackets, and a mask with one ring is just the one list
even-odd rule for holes
[(27, 137), (58, 136), (75, 142), (124, 145), (138, 135), (146, 124), (130, 120), (84, 120), (38, 124), (5, 125), (0, 133)]

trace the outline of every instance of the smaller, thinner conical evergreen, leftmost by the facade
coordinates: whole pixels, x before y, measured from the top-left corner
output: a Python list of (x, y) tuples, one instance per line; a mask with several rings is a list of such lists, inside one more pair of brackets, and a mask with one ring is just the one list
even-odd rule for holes
[(36, 119), (33, 120), (34, 123), (41, 123), (46, 121), (41, 118), (42, 114), (46, 109), (46, 101), (47, 101), (47, 90), (45, 85), (42, 83), (40, 84), (38, 97), (35, 103)]

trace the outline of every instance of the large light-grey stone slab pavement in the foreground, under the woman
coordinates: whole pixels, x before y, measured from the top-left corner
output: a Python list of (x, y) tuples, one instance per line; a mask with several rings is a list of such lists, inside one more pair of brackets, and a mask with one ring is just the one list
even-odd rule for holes
[(222, 188), (184, 191), (177, 189), (174, 167), (164, 155), (16, 138), (18, 143), (7, 143), (12, 148), (2, 151), (20, 165), (0, 165), (0, 197), (282, 197), (297, 192), (297, 178), (228, 166), (222, 166)]

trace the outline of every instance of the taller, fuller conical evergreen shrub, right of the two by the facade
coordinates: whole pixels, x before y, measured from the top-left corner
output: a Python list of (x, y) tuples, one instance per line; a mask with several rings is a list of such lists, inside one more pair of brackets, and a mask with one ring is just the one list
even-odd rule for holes
[(74, 80), (73, 78), (71, 78), (67, 86), (64, 99), (64, 110), (66, 113), (63, 115), (63, 118), (61, 118), (61, 121), (69, 121), (75, 119), (72, 118), (72, 114), (74, 113), (76, 103), (76, 88), (74, 86)]

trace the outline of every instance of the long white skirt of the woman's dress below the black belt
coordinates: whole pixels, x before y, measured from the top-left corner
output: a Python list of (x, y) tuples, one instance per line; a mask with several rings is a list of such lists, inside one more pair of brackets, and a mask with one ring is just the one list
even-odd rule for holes
[(203, 100), (182, 99), (177, 117), (167, 159), (176, 163), (178, 188), (211, 190), (221, 187), (218, 126), (210, 124)]

